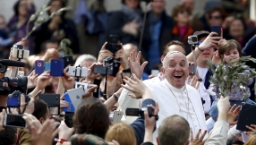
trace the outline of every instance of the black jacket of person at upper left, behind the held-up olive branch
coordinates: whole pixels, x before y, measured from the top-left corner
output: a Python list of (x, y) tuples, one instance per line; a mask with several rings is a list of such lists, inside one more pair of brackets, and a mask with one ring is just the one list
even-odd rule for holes
[(68, 46), (73, 49), (74, 54), (80, 53), (79, 40), (75, 25), (72, 20), (63, 18), (62, 22), (59, 24), (59, 30), (64, 30), (63, 38), (56, 38), (54, 36), (54, 31), (48, 29), (50, 21), (43, 23), (41, 27), (34, 32), (35, 35), (35, 54), (40, 53), (40, 48), (42, 43), (47, 40), (56, 40), (60, 42), (63, 38), (68, 38), (71, 40), (71, 45)]

